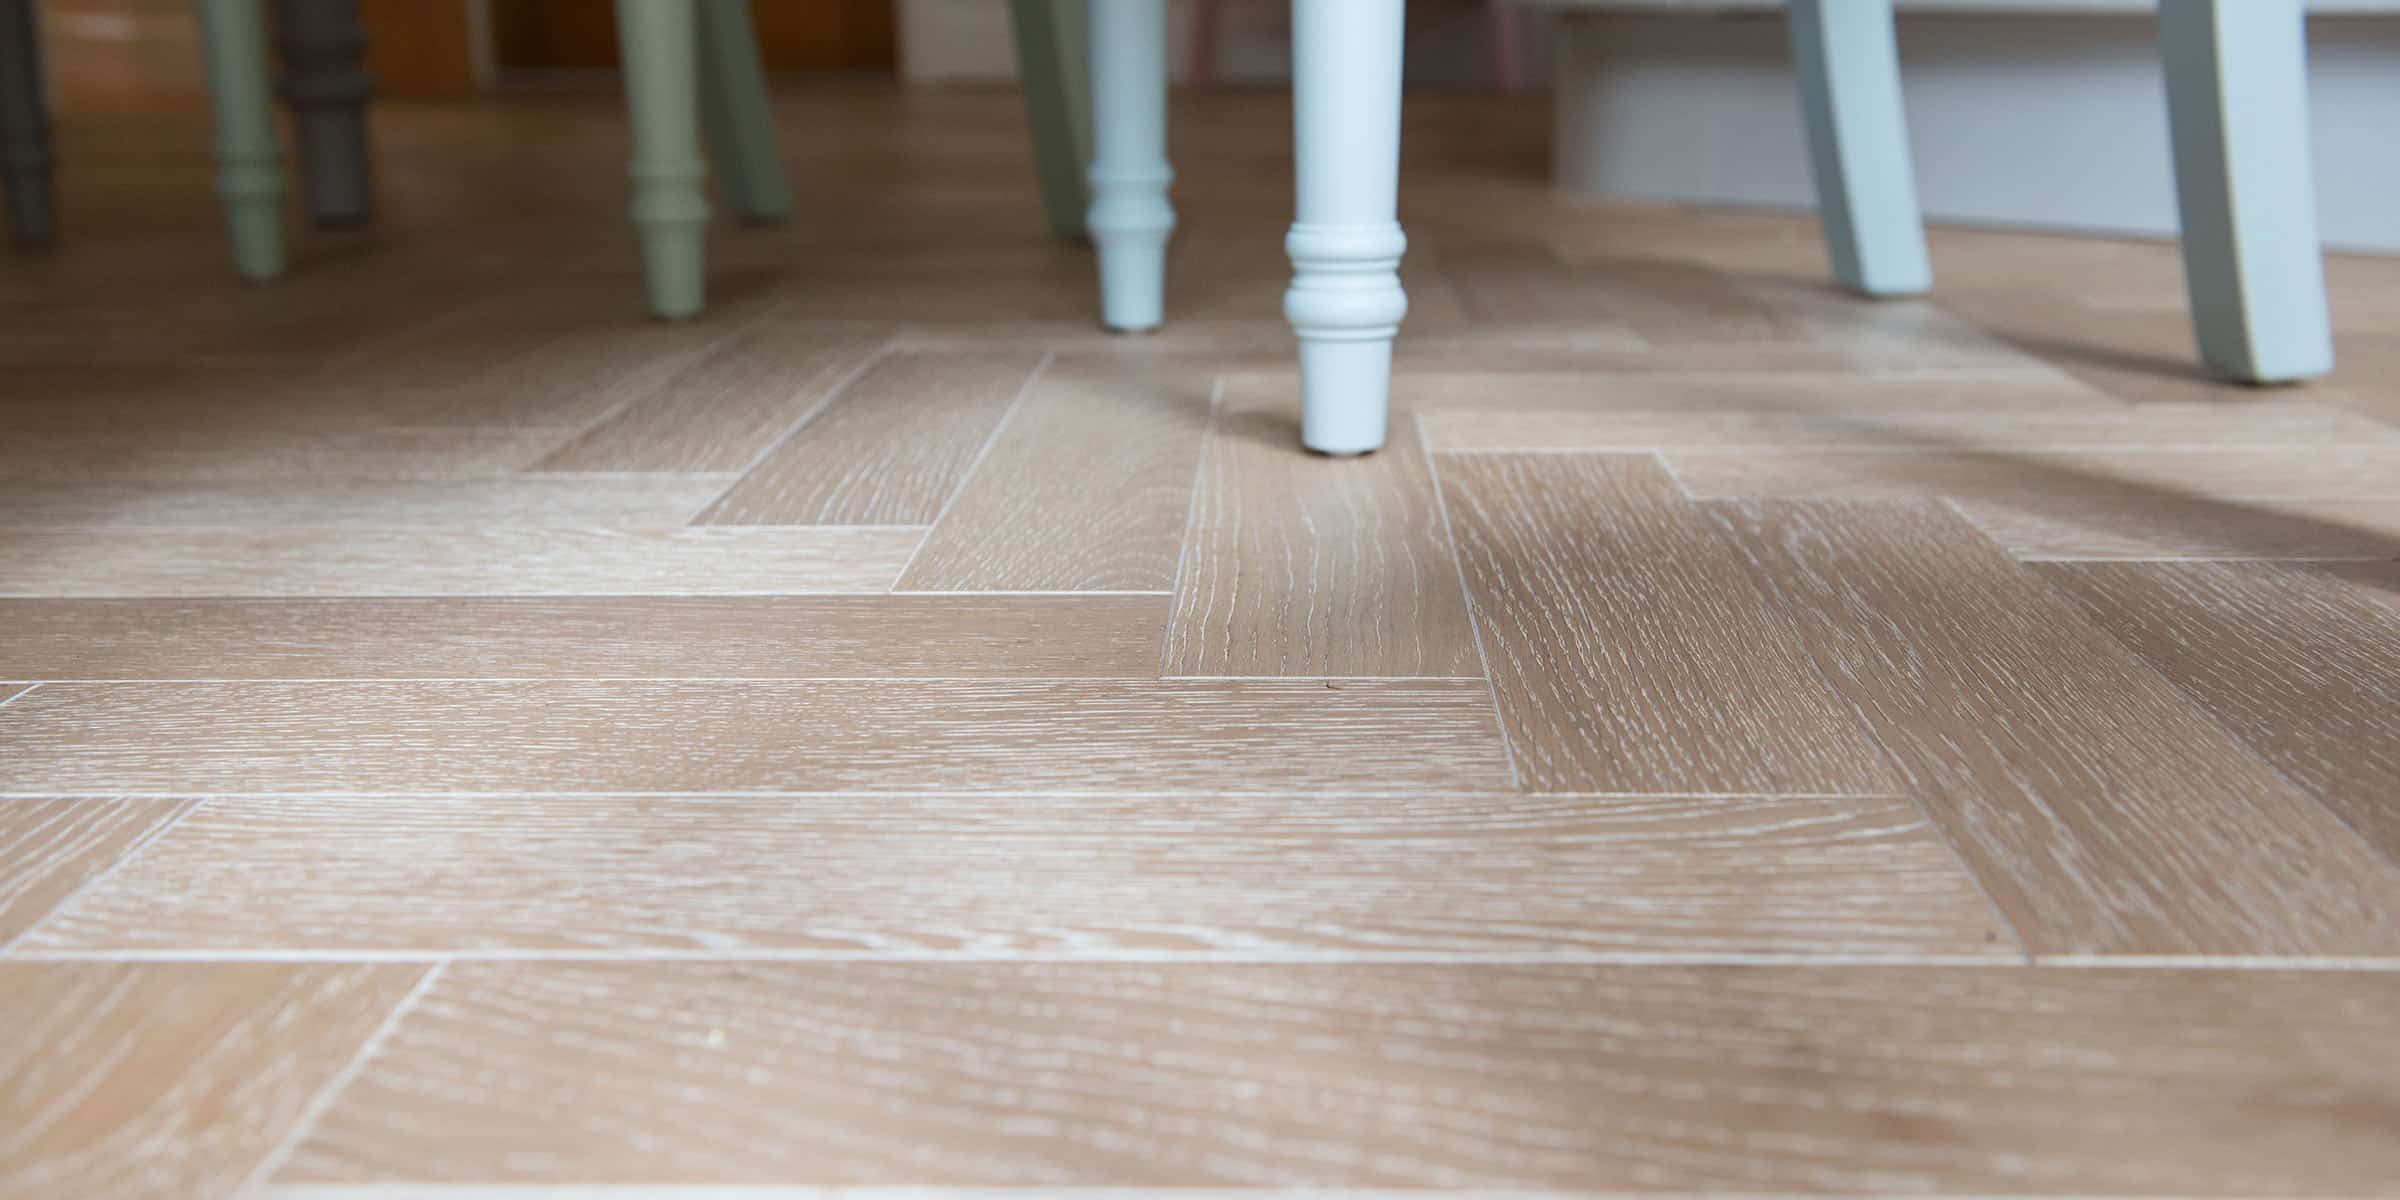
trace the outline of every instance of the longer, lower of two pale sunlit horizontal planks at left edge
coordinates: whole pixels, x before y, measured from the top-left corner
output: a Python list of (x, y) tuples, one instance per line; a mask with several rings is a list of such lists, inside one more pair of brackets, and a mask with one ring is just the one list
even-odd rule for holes
[(881, 593), (914, 528), (0, 530), (0, 595)]

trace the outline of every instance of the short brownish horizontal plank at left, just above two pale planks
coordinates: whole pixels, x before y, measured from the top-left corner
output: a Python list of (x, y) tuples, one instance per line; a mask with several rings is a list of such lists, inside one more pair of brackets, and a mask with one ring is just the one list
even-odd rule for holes
[(0, 437), (0, 480), (485, 480), (554, 446), (542, 430), (19, 430)]

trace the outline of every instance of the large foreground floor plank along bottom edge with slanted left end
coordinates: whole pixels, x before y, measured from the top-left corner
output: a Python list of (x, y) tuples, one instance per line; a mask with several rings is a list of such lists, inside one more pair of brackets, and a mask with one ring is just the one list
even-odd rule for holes
[(2364, 1195), (2395, 1078), (2374, 972), (461, 962), (276, 1178)]

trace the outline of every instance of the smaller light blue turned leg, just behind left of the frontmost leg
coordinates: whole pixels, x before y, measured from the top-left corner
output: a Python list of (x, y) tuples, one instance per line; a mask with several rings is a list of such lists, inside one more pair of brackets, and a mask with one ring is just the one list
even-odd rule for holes
[(1087, 0), (1092, 209), (1099, 322), (1157, 329), (1166, 307), (1166, 0)]

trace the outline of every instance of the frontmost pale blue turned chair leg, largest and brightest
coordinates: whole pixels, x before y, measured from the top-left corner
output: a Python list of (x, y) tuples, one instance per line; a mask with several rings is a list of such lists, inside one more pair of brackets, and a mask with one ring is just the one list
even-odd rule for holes
[(1291, 5), (1298, 218), (1284, 319), (1301, 338), (1301, 444), (1382, 446), (1399, 290), (1402, 0)]

